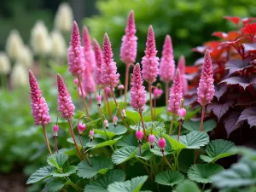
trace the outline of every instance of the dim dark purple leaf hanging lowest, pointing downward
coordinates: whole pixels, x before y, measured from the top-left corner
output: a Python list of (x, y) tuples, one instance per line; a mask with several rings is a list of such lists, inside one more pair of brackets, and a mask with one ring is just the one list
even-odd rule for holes
[(228, 134), (228, 137), (230, 137), (231, 132), (235, 131), (241, 126), (242, 122), (240, 122), (239, 124), (236, 124), (236, 121), (239, 118), (239, 116), (240, 116), (239, 112), (232, 112), (226, 119), (224, 119), (224, 125), (225, 125), (226, 132)]

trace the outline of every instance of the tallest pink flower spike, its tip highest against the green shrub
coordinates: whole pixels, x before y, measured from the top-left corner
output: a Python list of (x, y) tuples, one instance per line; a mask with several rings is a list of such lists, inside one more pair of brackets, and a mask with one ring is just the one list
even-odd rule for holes
[(134, 63), (137, 56), (137, 37), (135, 36), (136, 26), (133, 10), (130, 12), (125, 29), (125, 35), (122, 38), (120, 50), (121, 61), (126, 65)]

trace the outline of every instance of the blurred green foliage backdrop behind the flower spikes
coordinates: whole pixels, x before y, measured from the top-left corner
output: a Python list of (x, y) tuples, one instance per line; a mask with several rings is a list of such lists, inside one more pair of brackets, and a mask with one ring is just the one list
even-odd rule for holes
[[(49, 32), (54, 29), (55, 12), (61, 0), (3, 0), (0, 6), (0, 51), (4, 51), (6, 39), (12, 29), (20, 32), (25, 44), (30, 44), (32, 26), (37, 20), (44, 20)], [(124, 35), (127, 15), (131, 9), (135, 12), (138, 54), (141, 61), (148, 32), (148, 26), (154, 26), (158, 56), (166, 34), (172, 36), (174, 55), (177, 58), (185, 55), (188, 65), (192, 65), (199, 55), (191, 52), (195, 46), (214, 39), (212, 32), (227, 32), (236, 29), (224, 15), (240, 17), (256, 16), (256, 1), (254, 0), (70, 0), (65, 1), (73, 9), (74, 19), (82, 25), (89, 26), (91, 38), (102, 43), (104, 32), (108, 32), (113, 45), (115, 61), (119, 73), (125, 72), (125, 65), (119, 59), (121, 38)], [(70, 32), (63, 34), (66, 44)], [(34, 56), (35, 63), (37, 57)], [(73, 100), (77, 100), (73, 87), (73, 78), (67, 73), (67, 58), (62, 65), (44, 58), (48, 67), (48, 79), (40, 79), (39, 83), (44, 96), (49, 103), (53, 121), (57, 114), (55, 73), (61, 73), (69, 84)], [(12, 66), (14, 63), (12, 63)], [(37, 65), (33, 66), (37, 72)], [(11, 73), (11, 72), (10, 72)], [(10, 73), (7, 74), (8, 79)], [(3, 86), (1, 87), (3, 88)], [(46, 155), (42, 130), (33, 125), (30, 109), (28, 84), (13, 90), (0, 90), (0, 173), (24, 172), (31, 174), (40, 164), (44, 163)], [(49, 136), (52, 125), (49, 125)], [(63, 133), (64, 134), (64, 133)], [(65, 147), (65, 138), (61, 146)], [(1, 189), (1, 183), (0, 183)], [(29, 189), (38, 191), (37, 188)], [(21, 191), (21, 190), (20, 190)]]

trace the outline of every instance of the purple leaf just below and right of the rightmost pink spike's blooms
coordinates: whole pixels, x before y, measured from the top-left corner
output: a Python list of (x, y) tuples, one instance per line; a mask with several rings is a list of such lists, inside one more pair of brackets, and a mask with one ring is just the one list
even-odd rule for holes
[(212, 111), (219, 119), (226, 113), (229, 108), (233, 107), (232, 102), (225, 102), (224, 104), (213, 102), (207, 106), (207, 110)]

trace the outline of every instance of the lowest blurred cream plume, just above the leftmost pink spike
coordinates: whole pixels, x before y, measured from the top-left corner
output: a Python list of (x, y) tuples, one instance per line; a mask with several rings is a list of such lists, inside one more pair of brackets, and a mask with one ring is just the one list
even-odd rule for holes
[(15, 63), (15, 67), (10, 75), (10, 83), (14, 89), (28, 84), (27, 69), (20, 62)]

